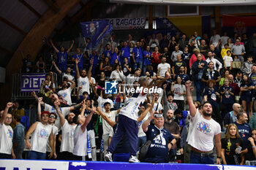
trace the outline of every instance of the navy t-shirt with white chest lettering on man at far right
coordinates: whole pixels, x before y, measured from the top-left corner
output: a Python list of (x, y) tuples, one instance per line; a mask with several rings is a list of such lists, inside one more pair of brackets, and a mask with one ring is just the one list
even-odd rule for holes
[(249, 143), (248, 138), (252, 136), (251, 127), (249, 126), (248, 123), (244, 123), (241, 125), (235, 122), (235, 124), (238, 128), (238, 132), (239, 135), (241, 136), (241, 139), (243, 139), (244, 147), (247, 147), (247, 144)]

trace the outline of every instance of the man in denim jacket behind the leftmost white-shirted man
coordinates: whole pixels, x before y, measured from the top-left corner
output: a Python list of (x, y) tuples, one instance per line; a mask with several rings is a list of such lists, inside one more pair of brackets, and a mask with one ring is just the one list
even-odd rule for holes
[(14, 115), (12, 122), (15, 123), (13, 128), (12, 148), (17, 159), (22, 159), (25, 148), (25, 127), (20, 123), (21, 116)]

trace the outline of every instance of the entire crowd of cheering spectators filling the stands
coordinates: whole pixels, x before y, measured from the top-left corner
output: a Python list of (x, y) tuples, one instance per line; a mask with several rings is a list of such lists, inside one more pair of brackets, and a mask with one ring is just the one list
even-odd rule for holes
[(0, 158), (256, 161), (256, 34), (157, 37), (117, 43), (113, 34), (102, 53), (87, 38), (72, 56), (74, 41), (64, 49), (50, 40), (49, 68), (42, 56), (34, 64), (23, 55), (22, 72), (50, 72), (31, 93), (37, 121), (29, 128), (18, 101), (1, 111)]

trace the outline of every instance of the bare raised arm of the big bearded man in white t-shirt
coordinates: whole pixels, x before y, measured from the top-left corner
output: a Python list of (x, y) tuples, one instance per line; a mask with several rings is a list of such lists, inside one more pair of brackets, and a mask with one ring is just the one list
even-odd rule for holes
[(191, 85), (192, 82), (188, 80), (186, 83), (186, 96), (187, 96), (187, 103), (189, 104), (189, 112), (192, 117), (195, 117), (195, 114), (197, 113), (197, 109), (195, 108), (195, 105), (193, 103), (192, 98), (192, 90), (194, 89)]

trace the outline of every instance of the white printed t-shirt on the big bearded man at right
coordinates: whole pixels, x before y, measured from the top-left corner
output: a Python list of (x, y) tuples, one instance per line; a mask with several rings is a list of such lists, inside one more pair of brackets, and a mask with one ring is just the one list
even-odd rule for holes
[(221, 132), (219, 123), (213, 119), (206, 120), (198, 111), (195, 117), (191, 118), (191, 122), (188, 143), (197, 150), (205, 152), (213, 150), (214, 136)]

